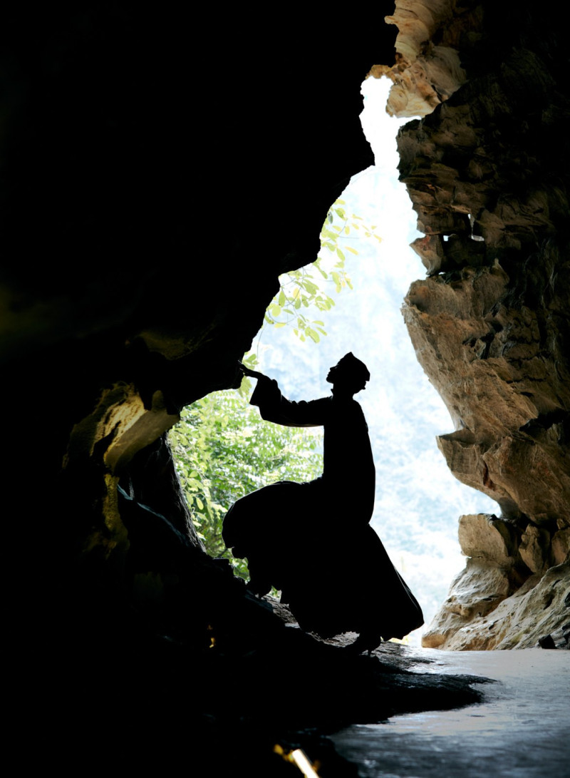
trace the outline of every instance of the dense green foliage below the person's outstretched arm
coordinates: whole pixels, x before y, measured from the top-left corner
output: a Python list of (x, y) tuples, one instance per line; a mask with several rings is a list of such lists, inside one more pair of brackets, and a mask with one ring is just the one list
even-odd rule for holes
[(257, 408), (233, 391), (218, 391), (184, 408), (170, 430), (180, 482), (192, 521), (212, 556), (229, 559), (247, 578), (222, 540), (229, 506), (261, 486), (288, 479), (308, 481), (323, 471), (322, 434), (264, 422)]

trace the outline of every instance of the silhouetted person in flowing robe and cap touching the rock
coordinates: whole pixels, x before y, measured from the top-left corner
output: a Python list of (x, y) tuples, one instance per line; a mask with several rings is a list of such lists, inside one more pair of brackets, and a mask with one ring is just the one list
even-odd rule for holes
[(223, 538), (233, 555), (247, 557), (250, 591), (281, 590), (309, 632), (359, 633), (355, 650), (417, 629), (421, 608), (369, 526), (376, 475), (368, 426), (353, 398), (370, 378), (365, 364), (343, 356), (327, 374), (331, 396), (309, 402), (292, 402), (275, 380), (242, 370), (257, 378), (250, 403), (263, 419), (324, 428), (320, 478), (257, 489), (226, 514)]

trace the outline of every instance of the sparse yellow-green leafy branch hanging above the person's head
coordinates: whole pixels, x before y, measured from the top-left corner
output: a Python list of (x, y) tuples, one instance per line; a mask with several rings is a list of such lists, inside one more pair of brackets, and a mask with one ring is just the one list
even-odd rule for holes
[(318, 343), (321, 335), (327, 335), (321, 318), (309, 318), (311, 309), (316, 309), (320, 314), (326, 313), (334, 306), (329, 291), (332, 293), (334, 289), (338, 294), (347, 287), (352, 289), (345, 268), (344, 251), (351, 254), (358, 254), (358, 251), (348, 241), (361, 235), (376, 238), (379, 242), (382, 240), (374, 232), (375, 224), (366, 226), (361, 217), (354, 213), (348, 216), (344, 205), (344, 200), (337, 200), (331, 206), (320, 231), (321, 251), (316, 261), (313, 265), (281, 275), (281, 288), (265, 312), (266, 324), (273, 327), (290, 325), (302, 341), (309, 338)]

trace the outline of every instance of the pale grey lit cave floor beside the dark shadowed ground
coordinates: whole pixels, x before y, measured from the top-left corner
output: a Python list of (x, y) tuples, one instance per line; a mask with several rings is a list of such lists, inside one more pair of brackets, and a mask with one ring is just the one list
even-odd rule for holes
[(477, 705), (398, 715), (332, 735), (337, 752), (358, 766), (361, 778), (570, 776), (570, 652), (451, 652), (395, 644), (383, 650), (404, 652), (415, 672), (493, 682), (478, 686), (484, 702)]

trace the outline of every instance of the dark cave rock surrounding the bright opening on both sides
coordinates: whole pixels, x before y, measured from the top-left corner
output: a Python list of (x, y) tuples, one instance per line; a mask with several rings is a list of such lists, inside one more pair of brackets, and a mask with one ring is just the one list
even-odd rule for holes
[(246, 595), (205, 553), (166, 443), (181, 408), (236, 387), (278, 275), (316, 258), (327, 209), (373, 163), (367, 74), (422, 117), (398, 135), (425, 235), (404, 320), (456, 419), (438, 446), (501, 509), (461, 517), (466, 570), (424, 645), (568, 647), (564, 31), (528, 0), (312, 18), (118, 2), (5, 25), (13, 720), (62, 766), (201, 752), (226, 774), (252, 749), (250, 774), (288, 775), (275, 741), (312, 738), (323, 776), (351, 775), (320, 734), (478, 699)]

